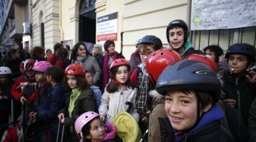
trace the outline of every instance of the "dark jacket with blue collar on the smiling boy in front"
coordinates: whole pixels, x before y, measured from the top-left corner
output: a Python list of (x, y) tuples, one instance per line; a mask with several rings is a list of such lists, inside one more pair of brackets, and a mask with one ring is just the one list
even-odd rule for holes
[(220, 106), (211, 106), (200, 121), (187, 132), (178, 132), (171, 127), (169, 119), (159, 119), (161, 130), (161, 141), (233, 141), (221, 129), (223, 112)]

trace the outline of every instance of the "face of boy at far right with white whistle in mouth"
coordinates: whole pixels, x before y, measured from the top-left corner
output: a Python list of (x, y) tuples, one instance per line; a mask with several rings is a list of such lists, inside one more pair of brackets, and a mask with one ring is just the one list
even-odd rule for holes
[(232, 73), (241, 73), (247, 69), (247, 57), (242, 54), (231, 54), (228, 58), (228, 69)]

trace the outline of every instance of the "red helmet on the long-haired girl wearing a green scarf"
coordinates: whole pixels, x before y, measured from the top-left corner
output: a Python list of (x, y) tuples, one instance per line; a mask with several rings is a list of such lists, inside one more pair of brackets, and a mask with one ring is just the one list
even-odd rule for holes
[(85, 77), (85, 70), (80, 64), (70, 64), (64, 72), (66, 75), (80, 75)]

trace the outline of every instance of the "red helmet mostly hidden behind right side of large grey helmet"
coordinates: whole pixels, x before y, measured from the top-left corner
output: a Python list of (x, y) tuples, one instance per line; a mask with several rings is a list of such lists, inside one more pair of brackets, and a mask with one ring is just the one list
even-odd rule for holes
[(202, 54), (190, 54), (185, 58), (185, 60), (195, 60), (195, 61), (202, 62), (203, 64), (208, 65), (208, 67), (210, 67), (215, 73), (218, 72), (218, 67), (216, 62), (208, 56), (205, 56)]

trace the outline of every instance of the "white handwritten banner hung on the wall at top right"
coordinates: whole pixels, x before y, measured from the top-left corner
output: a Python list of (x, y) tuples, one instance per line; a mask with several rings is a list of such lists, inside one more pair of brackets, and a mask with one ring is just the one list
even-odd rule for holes
[(256, 25), (256, 0), (192, 0), (191, 30)]

